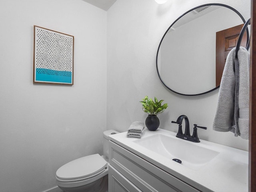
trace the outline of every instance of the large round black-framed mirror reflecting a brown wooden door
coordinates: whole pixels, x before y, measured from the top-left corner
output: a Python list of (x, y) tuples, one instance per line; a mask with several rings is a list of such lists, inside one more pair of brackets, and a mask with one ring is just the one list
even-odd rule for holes
[[(156, 68), (163, 84), (188, 96), (217, 89), (226, 57), (236, 46), (244, 23), (237, 10), (224, 4), (204, 4), (180, 16), (157, 50)], [(247, 34), (241, 46), (246, 46)]]

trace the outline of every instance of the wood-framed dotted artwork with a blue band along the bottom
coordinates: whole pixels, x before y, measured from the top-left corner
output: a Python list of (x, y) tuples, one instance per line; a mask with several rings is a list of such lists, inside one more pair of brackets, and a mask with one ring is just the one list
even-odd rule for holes
[(73, 85), (74, 36), (34, 25), (34, 83)]

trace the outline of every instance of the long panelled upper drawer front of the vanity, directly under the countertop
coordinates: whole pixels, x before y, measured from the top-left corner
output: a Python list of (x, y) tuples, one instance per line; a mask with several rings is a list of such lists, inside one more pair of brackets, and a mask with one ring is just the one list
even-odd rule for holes
[(110, 164), (143, 192), (200, 192), (112, 141), (109, 147)]

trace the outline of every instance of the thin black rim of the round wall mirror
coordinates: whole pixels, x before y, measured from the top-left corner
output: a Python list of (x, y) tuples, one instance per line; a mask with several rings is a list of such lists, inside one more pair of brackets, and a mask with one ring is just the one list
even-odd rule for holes
[[(192, 8), (192, 9), (188, 10), (187, 12), (185, 12), (184, 14), (182, 14), (179, 18), (177, 18), (177, 19), (170, 25), (170, 27), (169, 27), (169, 28), (166, 30), (166, 32), (164, 33), (164, 36), (162, 37), (162, 39), (161, 39), (161, 41), (160, 41), (160, 44), (159, 44), (159, 46), (158, 46), (158, 49), (157, 49), (157, 53), (156, 53), (156, 70), (157, 70), (158, 76), (159, 76), (161, 82), (164, 84), (164, 86), (166, 86), (166, 88), (168, 88), (169, 90), (171, 90), (172, 92), (174, 92), (174, 93), (176, 93), (176, 94), (180, 94), (180, 95), (184, 95), (184, 96), (197, 96), (197, 95), (203, 95), (203, 94), (212, 92), (212, 91), (214, 91), (214, 90), (220, 88), (220, 86), (217, 86), (216, 88), (213, 88), (212, 90), (209, 90), (209, 91), (206, 91), (206, 92), (203, 92), (203, 93), (200, 93), (200, 94), (191, 94), (191, 95), (189, 95), (189, 94), (182, 94), (182, 93), (176, 92), (176, 91), (172, 90), (170, 87), (168, 87), (168, 86), (164, 83), (164, 81), (162, 80), (162, 78), (161, 78), (161, 76), (160, 76), (160, 73), (159, 73), (159, 71), (158, 71), (158, 64), (157, 64), (158, 52), (159, 52), (161, 43), (162, 43), (162, 41), (163, 41), (163, 39), (164, 39), (166, 33), (168, 32), (168, 30), (169, 30), (180, 18), (182, 18), (182, 17), (183, 17), (184, 15), (186, 15), (187, 13), (189, 13), (189, 12), (191, 12), (192, 10), (195, 10), (195, 9), (197, 9), (197, 8), (199, 8), (199, 7), (209, 6), (209, 5), (210, 5), (210, 6), (212, 6), (212, 5), (217, 5), (217, 6), (223, 6), (223, 7), (229, 8), (229, 9), (233, 10), (234, 12), (236, 12), (236, 14), (238, 14), (238, 16), (240, 16), (240, 18), (242, 19), (242, 21), (243, 21), (244, 23), (246, 22), (245, 19), (244, 19), (244, 17), (242, 16), (242, 14), (240, 14), (240, 12), (238, 12), (236, 9), (234, 9), (234, 8), (228, 6), (228, 5), (225, 5), (225, 4), (209, 3), (209, 4), (203, 4), (203, 5), (200, 5), (200, 6), (197, 6), (197, 7), (194, 7), (194, 8)], [(248, 44), (248, 42), (249, 42), (249, 30), (248, 30), (248, 28), (246, 28), (246, 34), (247, 34), (247, 44)]]

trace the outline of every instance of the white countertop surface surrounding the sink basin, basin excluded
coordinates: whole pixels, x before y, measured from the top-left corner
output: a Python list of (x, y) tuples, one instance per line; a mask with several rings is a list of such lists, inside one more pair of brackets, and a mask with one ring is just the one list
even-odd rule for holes
[(149, 131), (145, 128), (140, 139), (127, 138), (126, 134), (127, 132), (111, 135), (110, 140), (199, 190), (204, 192), (210, 190), (214, 192), (248, 192), (249, 155), (247, 151), (202, 139), (200, 139), (200, 143), (183, 140), (219, 152), (210, 162), (194, 170), (136, 143), (136, 140), (143, 140), (154, 134), (176, 138), (175, 132), (164, 129)]

